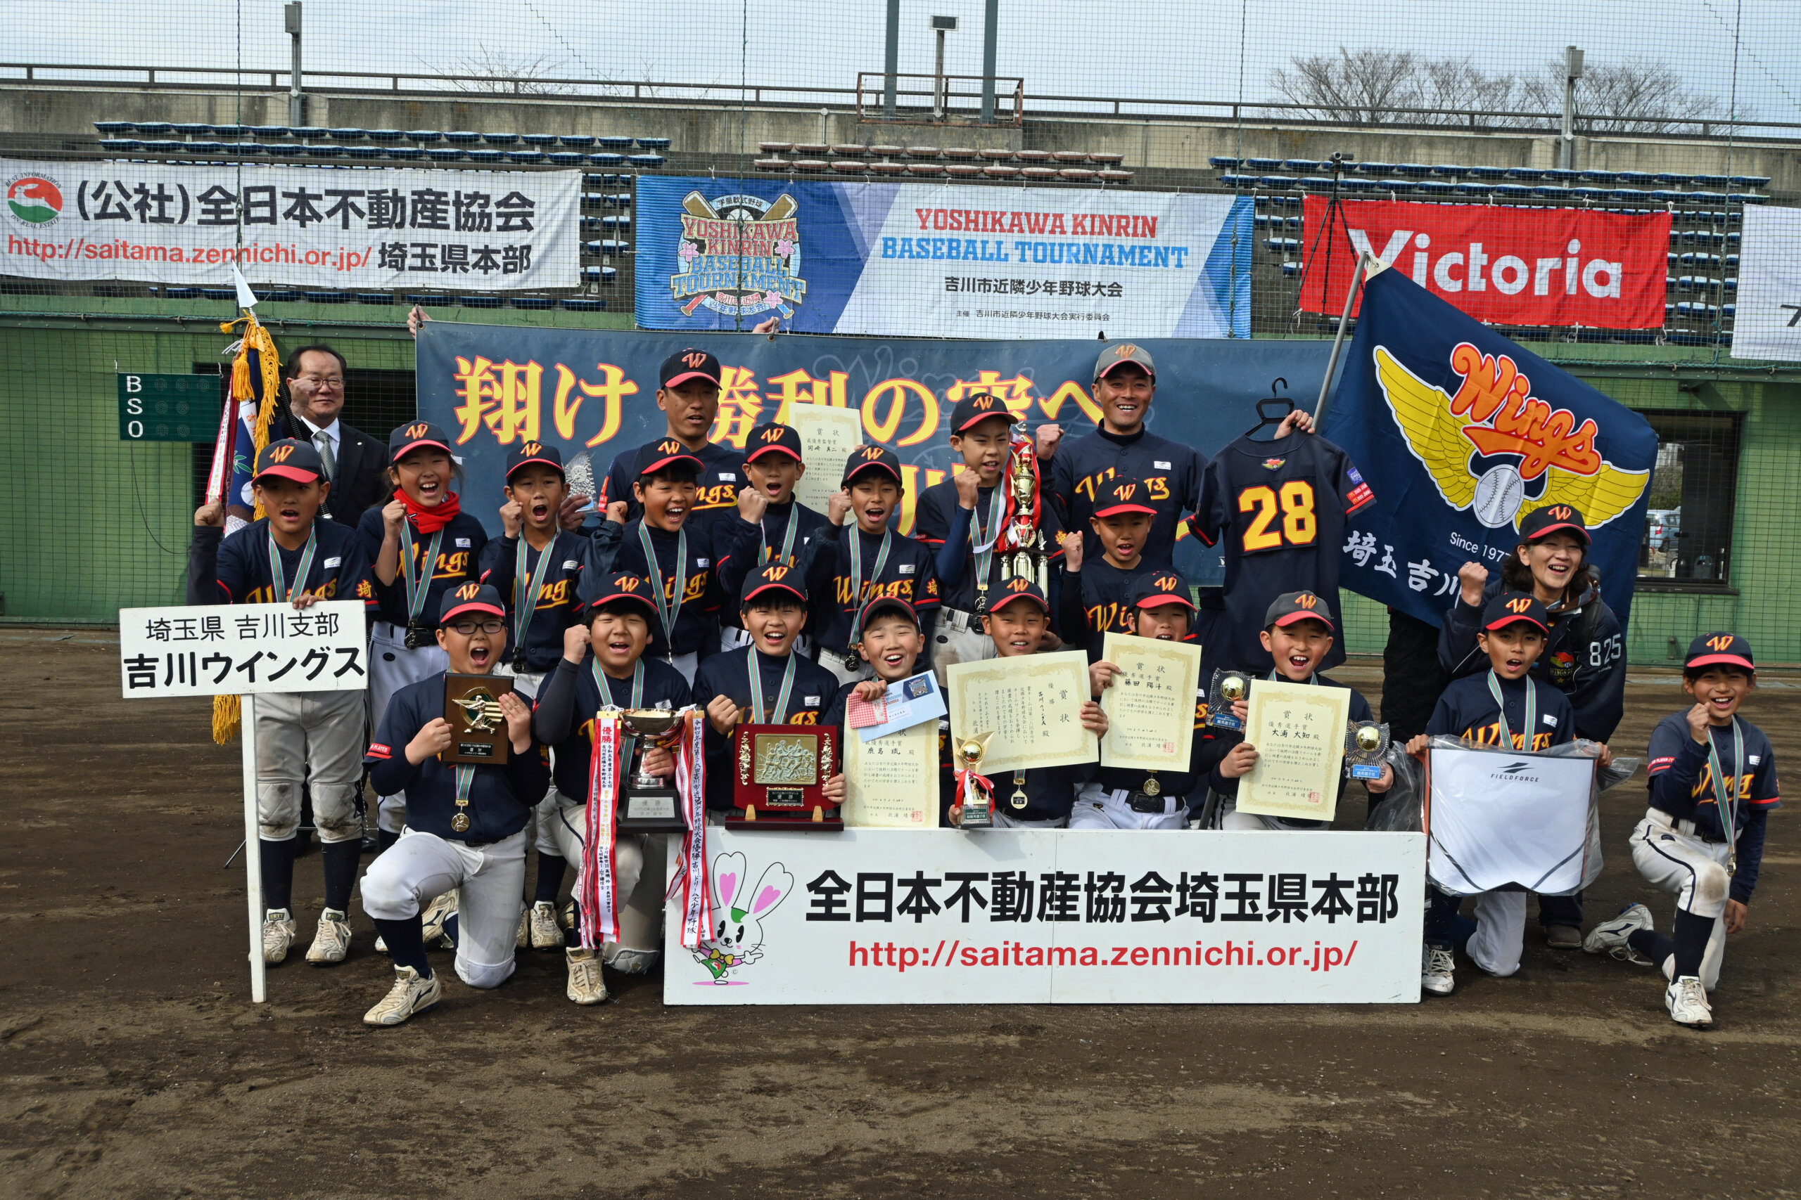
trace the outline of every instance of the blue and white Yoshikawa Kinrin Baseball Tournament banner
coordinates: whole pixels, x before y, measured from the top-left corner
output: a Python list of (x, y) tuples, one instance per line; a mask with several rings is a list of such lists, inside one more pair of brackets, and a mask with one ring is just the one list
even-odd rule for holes
[(638, 324), (1248, 338), (1250, 196), (638, 180)]

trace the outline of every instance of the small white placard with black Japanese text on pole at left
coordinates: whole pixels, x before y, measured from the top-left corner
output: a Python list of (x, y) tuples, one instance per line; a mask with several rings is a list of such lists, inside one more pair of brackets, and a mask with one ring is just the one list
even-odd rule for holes
[(362, 691), (369, 640), (360, 601), (119, 610), (126, 700), (261, 691)]

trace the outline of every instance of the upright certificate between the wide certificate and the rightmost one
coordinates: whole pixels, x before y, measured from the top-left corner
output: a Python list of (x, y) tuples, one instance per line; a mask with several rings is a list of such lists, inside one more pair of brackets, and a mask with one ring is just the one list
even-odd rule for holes
[(1160, 642), (1109, 631), (1100, 657), (1124, 671), (1100, 693), (1100, 709), (1108, 714), (1100, 765), (1189, 770), (1201, 648), (1196, 642)]

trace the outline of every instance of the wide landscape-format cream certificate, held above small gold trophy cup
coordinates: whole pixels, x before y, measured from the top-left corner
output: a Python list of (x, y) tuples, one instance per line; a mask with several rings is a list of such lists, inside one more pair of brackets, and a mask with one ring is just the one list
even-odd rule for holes
[(1100, 750), (1082, 729), (1088, 655), (1050, 655), (953, 662), (946, 669), (951, 734), (992, 732), (982, 772), (1093, 763)]

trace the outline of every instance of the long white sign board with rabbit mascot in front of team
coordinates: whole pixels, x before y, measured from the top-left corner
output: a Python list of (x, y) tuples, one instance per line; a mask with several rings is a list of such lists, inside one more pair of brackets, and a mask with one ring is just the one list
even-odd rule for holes
[(724, 932), (684, 948), (672, 910), (666, 1004), (1419, 1000), (1421, 833), (708, 829), (708, 858)]

